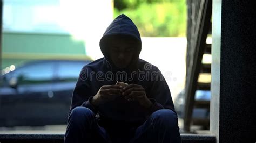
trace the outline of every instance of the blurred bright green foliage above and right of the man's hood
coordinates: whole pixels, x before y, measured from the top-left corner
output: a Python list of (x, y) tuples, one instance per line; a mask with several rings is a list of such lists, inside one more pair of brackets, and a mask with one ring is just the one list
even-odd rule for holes
[(185, 0), (114, 0), (114, 17), (124, 13), (144, 37), (186, 34)]

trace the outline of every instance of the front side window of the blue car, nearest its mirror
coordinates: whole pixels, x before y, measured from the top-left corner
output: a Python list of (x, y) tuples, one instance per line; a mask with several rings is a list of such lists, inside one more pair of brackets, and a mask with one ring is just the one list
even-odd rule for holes
[(53, 68), (54, 63), (49, 61), (27, 63), (11, 73), (9, 78), (17, 78), (19, 84), (50, 82), (53, 78)]

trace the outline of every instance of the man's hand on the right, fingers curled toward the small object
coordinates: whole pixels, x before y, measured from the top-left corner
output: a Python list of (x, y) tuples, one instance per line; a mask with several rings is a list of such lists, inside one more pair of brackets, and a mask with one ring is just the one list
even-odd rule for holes
[(146, 108), (150, 108), (152, 106), (152, 102), (149, 98), (147, 98), (145, 89), (142, 87), (142, 85), (127, 85), (122, 89), (122, 95), (128, 101), (138, 101), (140, 105)]

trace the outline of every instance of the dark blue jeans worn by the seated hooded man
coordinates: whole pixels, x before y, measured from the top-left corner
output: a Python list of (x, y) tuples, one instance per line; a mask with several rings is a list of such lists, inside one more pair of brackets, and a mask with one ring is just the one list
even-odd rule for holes
[(138, 128), (123, 128), (119, 125), (114, 130), (106, 130), (97, 123), (90, 109), (76, 107), (70, 113), (64, 142), (167, 143), (181, 142), (181, 139), (177, 115), (169, 109), (152, 113)]

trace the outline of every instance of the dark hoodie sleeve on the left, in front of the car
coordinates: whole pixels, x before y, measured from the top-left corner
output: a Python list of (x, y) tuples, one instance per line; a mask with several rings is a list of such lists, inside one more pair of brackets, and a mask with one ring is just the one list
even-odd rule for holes
[(77, 106), (84, 106), (92, 110), (96, 115), (98, 111), (96, 107), (91, 104), (93, 95), (91, 93), (90, 79), (87, 76), (90, 75), (89, 73), (90, 70), (86, 66), (81, 70), (76, 87), (73, 91), (70, 110), (76, 108)]

